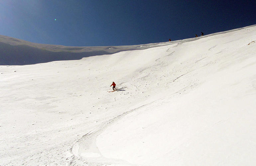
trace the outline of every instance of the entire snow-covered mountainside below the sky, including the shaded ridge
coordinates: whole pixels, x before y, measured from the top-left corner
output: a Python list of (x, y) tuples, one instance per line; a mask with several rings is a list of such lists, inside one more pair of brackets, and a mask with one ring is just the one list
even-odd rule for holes
[(135, 46), (0, 42), (0, 165), (256, 163), (255, 25)]

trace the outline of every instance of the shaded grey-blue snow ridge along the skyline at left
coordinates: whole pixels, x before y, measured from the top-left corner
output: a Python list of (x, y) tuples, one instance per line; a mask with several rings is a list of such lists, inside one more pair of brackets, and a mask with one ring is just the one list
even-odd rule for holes
[(0, 35), (0, 65), (27, 65), (60, 60), (78, 60), (83, 57), (113, 54), (127, 50), (142, 50), (168, 44), (170, 43), (151, 43), (131, 46), (74, 47), (38, 44)]

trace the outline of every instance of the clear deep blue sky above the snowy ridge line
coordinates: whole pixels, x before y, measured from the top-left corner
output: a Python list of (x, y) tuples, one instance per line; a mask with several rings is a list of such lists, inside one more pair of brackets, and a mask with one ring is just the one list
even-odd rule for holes
[(0, 35), (45, 44), (135, 45), (253, 24), (256, 0), (0, 0)]

